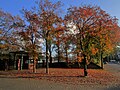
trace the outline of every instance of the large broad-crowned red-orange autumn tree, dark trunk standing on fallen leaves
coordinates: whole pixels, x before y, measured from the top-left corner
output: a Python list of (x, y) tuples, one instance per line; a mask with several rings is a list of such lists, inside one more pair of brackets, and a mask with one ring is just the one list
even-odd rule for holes
[[(106, 16), (107, 15), (107, 16)], [(106, 16), (106, 17), (105, 17)], [(87, 62), (91, 61), (90, 56), (91, 52), (92, 55), (96, 55), (99, 51), (98, 46), (103, 47), (99, 44), (98, 38), (102, 41), (106, 35), (110, 33), (105, 33), (103, 36), (100, 32), (109, 32), (110, 30), (108, 27), (110, 26), (112, 29), (117, 26), (114, 23), (113, 18), (109, 18), (110, 16), (106, 14), (105, 11), (101, 10), (100, 7), (97, 6), (81, 6), (81, 7), (71, 7), (68, 9), (68, 13), (66, 15), (66, 22), (67, 24), (72, 23), (75, 26), (76, 37), (77, 37), (77, 44), (76, 47), (78, 52), (80, 52), (83, 56), (84, 62), (84, 76), (87, 76)], [(98, 22), (105, 22), (107, 25), (101, 23), (105, 29), (100, 29), (100, 24)], [(110, 25), (110, 22), (112, 23)], [(98, 36), (98, 34), (100, 34)], [(112, 35), (113, 33), (111, 33)], [(100, 38), (102, 36), (102, 38)], [(108, 38), (107, 38), (108, 39)], [(110, 40), (110, 39), (108, 39)], [(105, 44), (107, 42), (104, 42)], [(110, 43), (109, 43), (110, 44)], [(107, 45), (107, 44), (106, 44)], [(102, 50), (102, 52), (105, 52)]]

